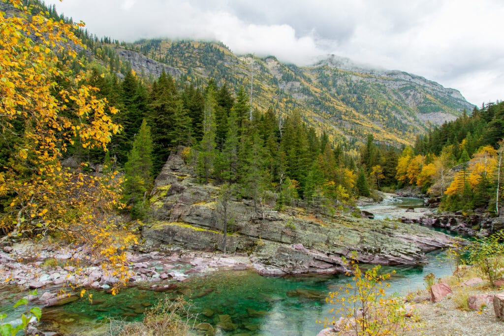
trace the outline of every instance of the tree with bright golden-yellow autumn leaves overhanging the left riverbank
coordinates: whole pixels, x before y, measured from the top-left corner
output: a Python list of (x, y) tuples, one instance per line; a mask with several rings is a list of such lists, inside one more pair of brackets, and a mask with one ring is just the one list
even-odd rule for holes
[(121, 179), (117, 172), (91, 173), (85, 164), (70, 170), (60, 162), (74, 144), (106, 150), (120, 128), (110, 117), (116, 109), (84, 84), (88, 75), (70, 70), (83, 48), (73, 33), (82, 24), (32, 15), (22, 1), (7, 3), (14, 14), (0, 12), (2, 239), (86, 243), (117, 266), (124, 261), (119, 252), (135, 241), (113, 217), (122, 206)]

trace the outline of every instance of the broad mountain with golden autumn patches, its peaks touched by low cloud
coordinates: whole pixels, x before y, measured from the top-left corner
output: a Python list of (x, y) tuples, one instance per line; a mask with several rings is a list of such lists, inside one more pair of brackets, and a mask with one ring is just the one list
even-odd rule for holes
[(165, 69), (196, 84), (213, 78), (250, 90), (253, 73), (255, 108), (273, 107), (280, 115), (298, 109), (309, 125), (334, 140), (355, 142), (373, 133), (382, 142), (411, 144), (417, 134), (474, 107), (459, 91), (423, 77), (334, 55), (300, 67), (273, 56), (236, 55), (218, 42), (154, 39), (110, 46), (133, 70), (151, 78)]

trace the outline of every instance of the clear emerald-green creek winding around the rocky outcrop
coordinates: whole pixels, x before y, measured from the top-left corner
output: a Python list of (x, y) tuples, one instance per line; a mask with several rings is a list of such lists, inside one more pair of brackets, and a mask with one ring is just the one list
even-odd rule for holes
[[(397, 203), (375, 207), (421, 207), (422, 204), (418, 199), (401, 199)], [(373, 211), (371, 206), (367, 210)], [(387, 213), (380, 215), (387, 217)], [(423, 266), (382, 267), (385, 272), (396, 271), (388, 281), (391, 285), (388, 293), (405, 295), (424, 289), (423, 277), (430, 272), (436, 278), (452, 274), (445, 252), (430, 253), (427, 259), (428, 263)], [(86, 295), (63, 306), (45, 308), (41, 327), (58, 330), (61, 334), (105, 333), (109, 318), (139, 321), (145, 309), (156, 305), (160, 299), (182, 295), (192, 301), (191, 312), (199, 314), (199, 321), (212, 324), (217, 328), (217, 334), (316, 335), (324, 327), (316, 321), (332, 319), (329, 310), (333, 307), (326, 303), (326, 296), (349, 282), (351, 277), (342, 274), (267, 277), (251, 270), (215, 271), (195, 275), (187, 282), (177, 283), (176, 288), (167, 292), (154, 292), (148, 287), (137, 286), (112, 296), (92, 290), (89, 292), (93, 295), (92, 304)], [(5, 308), (17, 296), (11, 293), (8, 300), (2, 300), (0, 308)], [(222, 323), (223, 320), (226, 323)], [(227, 330), (217, 327), (219, 322)]]

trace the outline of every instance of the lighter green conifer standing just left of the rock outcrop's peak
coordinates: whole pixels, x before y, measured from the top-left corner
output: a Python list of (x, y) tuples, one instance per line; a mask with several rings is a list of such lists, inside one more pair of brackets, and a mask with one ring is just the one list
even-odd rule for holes
[(124, 164), (124, 201), (131, 205), (133, 218), (143, 218), (147, 211), (146, 195), (151, 188), (152, 138), (144, 120)]

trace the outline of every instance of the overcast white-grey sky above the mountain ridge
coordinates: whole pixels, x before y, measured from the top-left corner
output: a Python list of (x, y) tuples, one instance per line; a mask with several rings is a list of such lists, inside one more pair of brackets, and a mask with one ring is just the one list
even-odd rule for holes
[(504, 99), (501, 0), (46, 0), (98, 36), (219, 40), (309, 65), (328, 54), (411, 72), (471, 103)]

